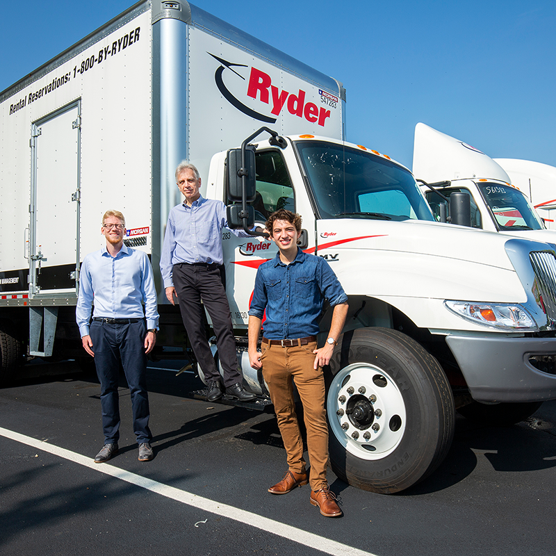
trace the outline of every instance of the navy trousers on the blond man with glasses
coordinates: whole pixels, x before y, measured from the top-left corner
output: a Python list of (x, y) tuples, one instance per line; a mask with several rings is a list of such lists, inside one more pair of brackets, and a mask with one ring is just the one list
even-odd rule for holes
[(120, 362), (124, 368), (131, 407), (133, 432), (139, 444), (150, 442), (149, 395), (147, 393), (147, 356), (145, 355), (145, 320), (128, 324), (109, 324), (93, 320), (89, 334), (95, 352), (95, 366), (101, 384), (102, 430), (104, 443), (120, 438), (120, 398), (118, 379)]

